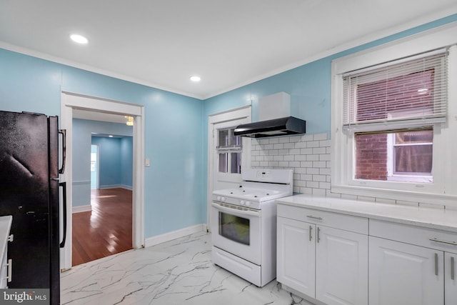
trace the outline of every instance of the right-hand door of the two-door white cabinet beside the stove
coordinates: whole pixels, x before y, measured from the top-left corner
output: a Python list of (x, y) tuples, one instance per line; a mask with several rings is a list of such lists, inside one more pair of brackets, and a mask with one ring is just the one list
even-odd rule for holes
[(317, 226), (316, 299), (368, 304), (368, 236)]

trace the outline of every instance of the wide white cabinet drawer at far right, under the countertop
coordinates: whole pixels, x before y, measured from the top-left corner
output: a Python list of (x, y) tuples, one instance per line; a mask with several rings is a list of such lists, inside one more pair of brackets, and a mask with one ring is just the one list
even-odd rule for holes
[(457, 234), (436, 229), (370, 219), (370, 236), (457, 254)]

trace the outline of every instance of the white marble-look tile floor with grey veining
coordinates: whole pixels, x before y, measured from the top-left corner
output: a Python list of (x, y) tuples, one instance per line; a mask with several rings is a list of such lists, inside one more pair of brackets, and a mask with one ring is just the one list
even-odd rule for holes
[(211, 262), (204, 232), (75, 266), (61, 274), (61, 304), (256, 305), (308, 302), (276, 281), (257, 286)]

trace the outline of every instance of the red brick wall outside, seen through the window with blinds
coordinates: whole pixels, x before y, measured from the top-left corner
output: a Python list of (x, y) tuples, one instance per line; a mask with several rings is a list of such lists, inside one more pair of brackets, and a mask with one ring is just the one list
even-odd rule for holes
[[(421, 71), (357, 86), (356, 121), (433, 111), (434, 71)], [(419, 91), (419, 89), (422, 89)], [(423, 89), (427, 89), (424, 91)], [(400, 103), (398, 102), (400, 101)], [(355, 179), (388, 179), (388, 134), (356, 134)], [(431, 154), (430, 154), (431, 162)], [(391, 162), (392, 164), (392, 162)], [(414, 172), (414, 170), (413, 170)]]

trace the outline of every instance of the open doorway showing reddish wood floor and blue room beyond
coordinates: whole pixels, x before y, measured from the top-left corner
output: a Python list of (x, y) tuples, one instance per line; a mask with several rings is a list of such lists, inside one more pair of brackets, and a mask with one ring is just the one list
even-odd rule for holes
[[(81, 111), (74, 114), (73, 178), (85, 181), (90, 175), (90, 186), (89, 181), (79, 182), (79, 194), (74, 193), (74, 205), (89, 203), (89, 209), (72, 215), (72, 266), (132, 249), (133, 174), (131, 126), (124, 116), (111, 122), (85, 120)], [(114, 130), (124, 135), (101, 133)], [(90, 171), (82, 166), (89, 161)]]

